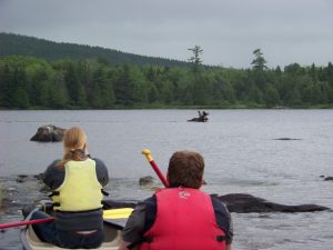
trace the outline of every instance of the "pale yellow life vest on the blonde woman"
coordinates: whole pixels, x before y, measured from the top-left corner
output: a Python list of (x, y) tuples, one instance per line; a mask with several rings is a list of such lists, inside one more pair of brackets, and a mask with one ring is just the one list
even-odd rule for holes
[(102, 207), (102, 186), (97, 178), (95, 161), (68, 161), (64, 180), (53, 196), (54, 210), (88, 211)]

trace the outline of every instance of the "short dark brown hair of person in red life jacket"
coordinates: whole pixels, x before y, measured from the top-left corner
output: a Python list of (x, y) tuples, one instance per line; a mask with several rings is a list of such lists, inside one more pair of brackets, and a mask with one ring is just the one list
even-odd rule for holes
[(204, 160), (194, 151), (176, 151), (169, 161), (169, 187), (199, 189), (202, 184)]

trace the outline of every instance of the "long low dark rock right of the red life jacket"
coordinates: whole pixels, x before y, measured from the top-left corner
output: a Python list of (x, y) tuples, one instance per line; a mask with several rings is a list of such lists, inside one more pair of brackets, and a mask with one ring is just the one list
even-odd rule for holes
[(248, 193), (230, 193), (218, 197), (223, 201), (230, 212), (315, 212), (331, 210), (330, 208), (316, 204), (286, 206), (266, 201), (262, 198)]

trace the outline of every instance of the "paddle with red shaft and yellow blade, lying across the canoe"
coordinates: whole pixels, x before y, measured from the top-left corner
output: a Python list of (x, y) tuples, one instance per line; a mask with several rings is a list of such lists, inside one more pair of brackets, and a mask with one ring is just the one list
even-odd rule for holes
[[(120, 208), (120, 209), (109, 209), (103, 211), (103, 219), (127, 219), (132, 213), (132, 208)], [(19, 226), (27, 226), (27, 224), (37, 224), (37, 223), (47, 223), (53, 221), (54, 218), (46, 218), (46, 219), (38, 219), (38, 220), (26, 220), (26, 221), (18, 221), (18, 222), (10, 222), (0, 224), (0, 229), (4, 228), (13, 228)]]

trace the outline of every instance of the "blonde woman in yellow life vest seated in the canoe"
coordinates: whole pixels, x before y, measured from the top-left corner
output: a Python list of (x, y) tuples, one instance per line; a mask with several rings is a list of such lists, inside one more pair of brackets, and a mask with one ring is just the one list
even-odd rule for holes
[[(85, 132), (79, 127), (65, 131), (63, 150), (62, 159), (53, 161), (43, 174), (52, 190), (54, 221), (33, 224), (33, 230), (42, 241), (61, 248), (98, 248), (104, 241), (101, 202), (108, 169), (90, 157)], [(47, 217), (36, 211), (31, 219)]]

